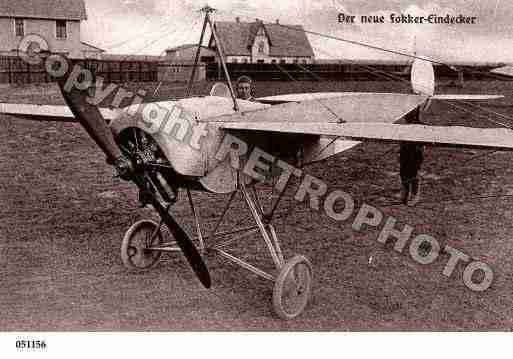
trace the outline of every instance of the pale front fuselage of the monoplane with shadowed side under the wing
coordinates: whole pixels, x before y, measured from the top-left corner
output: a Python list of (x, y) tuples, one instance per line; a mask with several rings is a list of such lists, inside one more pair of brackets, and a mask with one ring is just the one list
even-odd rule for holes
[[(240, 118), (245, 112), (258, 112), (270, 105), (238, 100)], [(229, 155), (219, 155), (227, 131), (221, 128), (227, 116), (236, 114), (233, 102), (224, 97), (195, 97), (126, 108), (112, 121), (114, 136), (130, 128), (151, 135), (164, 152), (178, 182), (198, 182), (215, 193), (236, 190), (237, 169)], [(319, 146), (319, 136), (238, 131), (247, 144), (247, 153), (258, 148), (293, 164), (305, 146)], [(245, 158), (242, 156), (241, 161)]]

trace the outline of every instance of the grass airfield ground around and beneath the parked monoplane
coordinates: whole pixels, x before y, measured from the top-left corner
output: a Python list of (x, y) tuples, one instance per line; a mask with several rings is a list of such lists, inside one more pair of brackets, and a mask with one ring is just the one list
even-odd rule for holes
[[(180, 96), (182, 85), (166, 85), (151, 100)], [(206, 94), (211, 84), (198, 84)], [(135, 89), (135, 85), (131, 86)], [(156, 84), (146, 84), (150, 95)], [(402, 84), (257, 83), (256, 95), (304, 91), (407, 91)], [(502, 93), (483, 104), (513, 117), (513, 83), (468, 82), (443, 92)], [(0, 102), (62, 104), (55, 87), (2, 89)], [(446, 103), (434, 104), (432, 124), (494, 126), (486, 118)], [(481, 117), (479, 117), (481, 116)], [(496, 125), (495, 125), (496, 126)], [(130, 273), (119, 256), (121, 239), (136, 220), (154, 217), (138, 209), (132, 186), (113, 170), (75, 124), (39, 123), (0, 116), (0, 330), (510, 330), (513, 328), (513, 155), (491, 151), (427, 148), (422, 202), (397, 204), (398, 147), (363, 144), (316, 164), (307, 173), (330, 190), (351, 193), (358, 204), (380, 208), (482, 260), (495, 278), (485, 292), (467, 289), (463, 266), (442, 275), (449, 259), (414, 262), (376, 241), (378, 230), (355, 232), (351, 220), (336, 223), (285, 198), (276, 228), (287, 257), (304, 254), (314, 265), (314, 291), (297, 319), (273, 316), (272, 286), (215, 257), (207, 262), (213, 289), (205, 290), (179, 257), (164, 256), (151, 271)], [(174, 208), (193, 233), (184, 201)], [(211, 228), (226, 197), (196, 194)], [(244, 220), (238, 202), (229, 222)], [(264, 263), (263, 246), (239, 243), (236, 252)], [(372, 260), (369, 261), (369, 258)]]

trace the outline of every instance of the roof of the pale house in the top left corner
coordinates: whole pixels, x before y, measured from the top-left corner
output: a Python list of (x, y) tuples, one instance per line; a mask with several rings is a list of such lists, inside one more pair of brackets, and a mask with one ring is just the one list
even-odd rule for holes
[(0, 17), (87, 19), (84, 0), (0, 0)]

